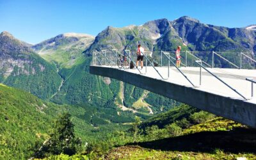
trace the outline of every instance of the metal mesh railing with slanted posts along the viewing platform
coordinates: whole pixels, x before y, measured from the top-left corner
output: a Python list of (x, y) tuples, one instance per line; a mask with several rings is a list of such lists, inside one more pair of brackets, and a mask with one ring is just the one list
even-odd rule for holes
[[(239, 52), (240, 60), (236, 59), (236, 61), (234, 61), (234, 60), (230, 61), (227, 59), (227, 57), (232, 56), (232, 54), (234, 54), (234, 52), (229, 53), (229, 52), (214, 52), (214, 51), (212, 51), (212, 52), (182, 51), (182, 52), (180, 52), (180, 55), (182, 56), (182, 58), (184, 58), (183, 61), (185, 61), (185, 62), (181, 63), (181, 65), (184, 67), (196, 67), (199, 65), (199, 68), (200, 68), (199, 84), (200, 84), (200, 86), (202, 85), (202, 68), (203, 68), (211, 76), (215, 77), (216, 79), (218, 79), (218, 81), (220, 81), (221, 83), (228, 86), (228, 88), (230, 88), (231, 90), (236, 92), (239, 96), (243, 97), (243, 99), (246, 99), (244, 95), (242, 95), (240, 92), (237, 92), (237, 90), (232, 88), (229, 84), (225, 83), (225, 81), (220, 79), (220, 77), (216, 76), (216, 74), (213, 74), (212, 71), (207, 69), (207, 67), (209, 67), (218, 72), (223, 72), (226, 75), (230, 74), (229, 76), (232, 76), (232, 73), (229, 73), (228, 70), (221, 70), (220, 68), (213, 68), (213, 67), (215, 67), (215, 65), (220, 66), (220, 62), (221, 62), (221, 65), (222, 65), (222, 63), (228, 64), (228, 65), (225, 65), (226, 67), (242, 68), (243, 61), (245, 61), (246, 59), (250, 60), (250, 64), (253, 64), (253, 63), (256, 64), (256, 60), (253, 60), (253, 58), (250, 58), (250, 56), (246, 55), (248, 53), (244, 53), (244, 52)], [(237, 54), (237, 52), (236, 52), (236, 54)], [(167, 80), (170, 77), (172, 77), (172, 75), (170, 75), (170, 73), (172, 73), (172, 72), (170, 72), (170, 68), (172, 65), (172, 70), (173, 70), (173, 68), (178, 70), (180, 75), (182, 75), (182, 77), (185, 77), (186, 80), (189, 82), (189, 84), (191, 84), (191, 86), (195, 87), (195, 82), (191, 81), (191, 79), (189, 79), (186, 76), (186, 74), (184, 74), (184, 70), (180, 70), (180, 68), (178, 68), (176, 66), (176, 64), (175, 64), (176, 58), (175, 58), (174, 51), (144, 52), (144, 57), (145, 57), (145, 61), (144, 61), (145, 70), (144, 71), (145, 72), (143, 72), (143, 70), (140, 70), (138, 67), (136, 67), (136, 58), (137, 58), (136, 52), (131, 52), (128, 49), (126, 49), (124, 51), (118, 51), (116, 49), (112, 49), (110, 52), (107, 50), (93, 51), (92, 55), (93, 55), (92, 65), (102, 65), (102, 66), (109, 65), (111, 67), (116, 67), (118, 61), (119, 61), (119, 63), (121, 63), (120, 56), (125, 56), (127, 58), (127, 61), (129, 61), (129, 67), (122, 66), (121, 69), (129, 70), (129, 69), (131, 69), (131, 65), (133, 65), (136, 68), (136, 70), (138, 70), (139, 74), (147, 74), (148, 66), (151, 66), (163, 80)], [(118, 58), (118, 56), (119, 56), (119, 58)], [(205, 58), (205, 56), (207, 58)], [(214, 60), (216, 60), (216, 64), (214, 63)], [(209, 63), (209, 62), (211, 62), (211, 63)], [(240, 67), (237, 65), (237, 63), (240, 63), (239, 64)], [(211, 64), (211, 65), (209, 65), (209, 64)], [(166, 67), (168, 77), (164, 77), (163, 72), (166, 72), (166, 71), (164, 71), (164, 69), (159, 70), (159, 68), (157, 68), (157, 67)], [(161, 72), (159, 72), (159, 71), (161, 71)], [(236, 77), (236, 78), (238, 79), (238, 77)], [(252, 82), (252, 97), (253, 97), (253, 83), (255, 83), (255, 81), (253, 81), (253, 79), (250, 79), (250, 78), (245, 79), (245, 77), (242, 77), (242, 76), (239, 77), (239, 79)]]

